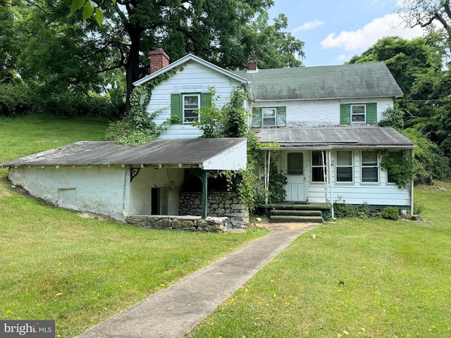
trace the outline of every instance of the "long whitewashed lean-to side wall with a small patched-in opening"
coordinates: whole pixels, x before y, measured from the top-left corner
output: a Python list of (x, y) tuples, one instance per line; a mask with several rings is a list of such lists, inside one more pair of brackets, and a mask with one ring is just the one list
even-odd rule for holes
[(13, 184), (51, 204), (120, 220), (124, 219), (127, 176), (122, 166), (20, 166), (8, 173)]

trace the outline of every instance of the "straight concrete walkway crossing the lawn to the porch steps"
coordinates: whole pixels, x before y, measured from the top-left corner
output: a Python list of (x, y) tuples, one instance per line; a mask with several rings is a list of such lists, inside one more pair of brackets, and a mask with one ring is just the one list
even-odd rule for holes
[(78, 338), (183, 337), (285, 249), (318, 224), (283, 224), (219, 261), (163, 289)]

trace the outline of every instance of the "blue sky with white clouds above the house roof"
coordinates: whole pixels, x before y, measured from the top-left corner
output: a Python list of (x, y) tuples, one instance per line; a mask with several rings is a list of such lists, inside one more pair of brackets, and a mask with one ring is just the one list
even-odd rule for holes
[(421, 28), (404, 28), (397, 0), (274, 0), (270, 18), (288, 16), (288, 31), (305, 42), (306, 66), (341, 65), (386, 36), (412, 39)]

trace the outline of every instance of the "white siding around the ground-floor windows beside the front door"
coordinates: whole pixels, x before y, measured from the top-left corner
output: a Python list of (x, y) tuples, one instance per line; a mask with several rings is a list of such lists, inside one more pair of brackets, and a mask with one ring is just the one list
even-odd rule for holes
[[(366, 149), (354, 149), (353, 158), (353, 182), (336, 182), (335, 154), (331, 152), (332, 202), (345, 201), (346, 204), (370, 204), (377, 206), (410, 206), (409, 189), (400, 189), (394, 183), (387, 181), (387, 170), (379, 166), (379, 182), (362, 182), (361, 151)], [(286, 175), (285, 161), (287, 151), (272, 151), (271, 158), (275, 161), (279, 170)], [(263, 173), (263, 170), (261, 170)], [(304, 151), (304, 175), (307, 184), (307, 201), (310, 203), (326, 203), (323, 182), (311, 182), (311, 151)], [(330, 194), (328, 195), (330, 199)]]

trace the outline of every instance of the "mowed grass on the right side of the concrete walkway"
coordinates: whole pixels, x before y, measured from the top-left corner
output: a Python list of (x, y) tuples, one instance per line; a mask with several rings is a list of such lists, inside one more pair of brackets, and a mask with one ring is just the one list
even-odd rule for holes
[(451, 337), (451, 183), (415, 199), (425, 222), (339, 219), (303, 234), (189, 336)]

